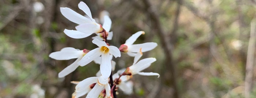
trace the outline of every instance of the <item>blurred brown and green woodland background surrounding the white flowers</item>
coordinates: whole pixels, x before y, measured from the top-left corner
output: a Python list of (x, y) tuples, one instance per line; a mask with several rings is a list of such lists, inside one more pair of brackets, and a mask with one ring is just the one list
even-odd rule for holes
[[(119, 47), (137, 31), (136, 44), (157, 42), (141, 59), (157, 61), (135, 75), (133, 94), (119, 98), (255, 98), (255, 0), (82, 0), (93, 18), (108, 11)], [(96, 48), (88, 38), (63, 33), (77, 24), (60, 13), (69, 7), (79, 14), (79, 0), (0, 0), (0, 98), (71, 98), (75, 85), (95, 76), (99, 65), (78, 67), (65, 78), (57, 74), (74, 60), (48, 57), (64, 47)], [(114, 59), (116, 71), (133, 57)], [(85, 98), (85, 97), (84, 97)]]

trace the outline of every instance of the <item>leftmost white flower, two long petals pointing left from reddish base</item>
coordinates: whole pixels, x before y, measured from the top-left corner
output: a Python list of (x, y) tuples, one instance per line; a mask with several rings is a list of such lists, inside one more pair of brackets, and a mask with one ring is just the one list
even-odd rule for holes
[(89, 50), (84, 49), (84, 50), (79, 50), (71, 47), (66, 47), (61, 49), (58, 52), (53, 52), (49, 55), (52, 59), (55, 60), (70, 60), (70, 59), (77, 59), (75, 60), (74, 63), (70, 64), (68, 67), (64, 68), (60, 73), (59, 73), (59, 78), (62, 78), (69, 73), (73, 72), (77, 67), (79, 66), (77, 62), (82, 59), (82, 57), (88, 53)]

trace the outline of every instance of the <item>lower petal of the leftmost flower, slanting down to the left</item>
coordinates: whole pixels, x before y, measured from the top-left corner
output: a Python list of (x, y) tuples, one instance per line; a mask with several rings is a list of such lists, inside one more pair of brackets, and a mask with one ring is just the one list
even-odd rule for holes
[(72, 63), (72, 64), (70, 64), (68, 67), (64, 68), (64, 69), (59, 73), (59, 78), (62, 78), (62, 77), (64, 77), (64, 76), (68, 75), (69, 73), (75, 71), (75, 69), (77, 69), (77, 67), (79, 66), (79, 65), (77, 64), (77, 62), (78, 62), (79, 60), (81, 60), (81, 59), (82, 59), (82, 57), (79, 57), (77, 60), (75, 60), (74, 63)]

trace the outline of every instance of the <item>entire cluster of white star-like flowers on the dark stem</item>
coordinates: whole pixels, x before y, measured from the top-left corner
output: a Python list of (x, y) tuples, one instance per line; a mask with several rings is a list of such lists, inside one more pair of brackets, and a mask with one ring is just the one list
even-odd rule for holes
[[(49, 57), (56, 60), (77, 59), (59, 73), (59, 78), (65, 77), (73, 72), (78, 66), (85, 66), (92, 61), (96, 64), (100, 64), (100, 71), (96, 73), (96, 77), (86, 78), (81, 82), (71, 82), (77, 84), (75, 92), (72, 95), (73, 97), (78, 98), (87, 94), (86, 98), (112, 98), (118, 88), (125, 94), (131, 94), (133, 91), (133, 83), (129, 79), (132, 78), (133, 75), (138, 74), (159, 77), (158, 73), (141, 72), (156, 61), (156, 59), (152, 57), (139, 61), (142, 52), (147, 52), (157, 46), (155, 42), (133, 44), (141, 34), (145, 34), (144, 31), (138, 31), (133, 34), (126, 40), (125, 44), (120, 45), (119, 48), (110, 46), (107, 43), (107, 40), (111, 40), (113, 36), (113, 32), (110, 32), (112, 24), (110, 17), (104, 14), (100, 19), (103, 23), (103, 25), (101, 25), (92, 18), (90, 9), (84, 2), (80, 2), (78, 7), (85, 12), (84, 16), (70, 8), (60, 8), (64, 17), (78, 24), (78, 26), (75, 27), (76, 30), (65, 29), (64, 33), (71, 38), (85, 38), (94, 33), (96, 36), (92, 37), (92, 43), (97, 45), (98, 48), (79, 50), (66, 47), (49, 55)], [(134, 63), (130, 67), (121, 69), (112, 75), (111, 72), (115, 70), (116, 65), (115, 61), (112, 61), (112, 58), (113, 56), (115, 58), (120, 57), (120, 52), (127, 53), (129, 56), (134, 57)]]

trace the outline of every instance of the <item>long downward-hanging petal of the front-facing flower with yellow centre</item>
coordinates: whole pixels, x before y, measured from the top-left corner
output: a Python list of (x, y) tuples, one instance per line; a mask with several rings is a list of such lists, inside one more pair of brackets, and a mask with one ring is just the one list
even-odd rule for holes
[(110, 54), (103, 53), (101, 55), (100, 72), (104, 79), (110, 76), (111, 69)]

